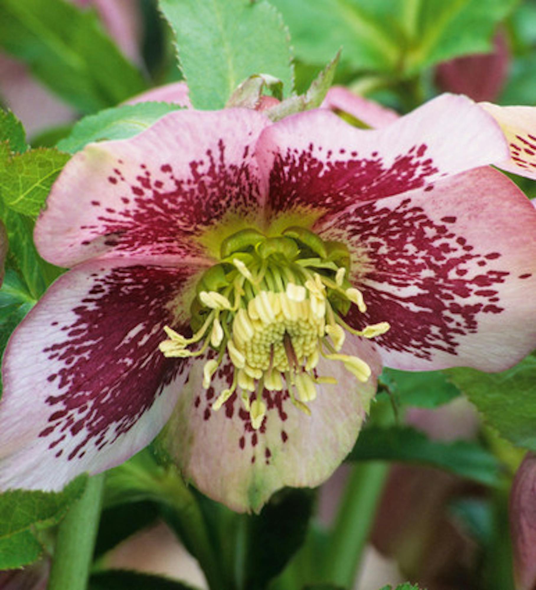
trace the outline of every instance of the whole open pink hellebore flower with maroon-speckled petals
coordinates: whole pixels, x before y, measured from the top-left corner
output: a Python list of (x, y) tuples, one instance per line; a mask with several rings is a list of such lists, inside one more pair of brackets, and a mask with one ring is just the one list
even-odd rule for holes
[(35, 228), (58, 278), (11, 337), (0, 487), (158, 444), (236, 510), (351, 450), (381, 362), (534, 346), (536, 211), (495, 120), (442, 96), (380, 130), (184, 110), (67, 163)]

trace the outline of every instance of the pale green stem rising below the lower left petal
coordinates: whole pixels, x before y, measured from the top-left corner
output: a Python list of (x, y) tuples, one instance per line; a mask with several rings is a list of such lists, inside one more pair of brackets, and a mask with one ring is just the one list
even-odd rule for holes
[(47, 590), (86, 590), (103, 489), (104, 475), (90, 477), (83, 496), (58, 527)]

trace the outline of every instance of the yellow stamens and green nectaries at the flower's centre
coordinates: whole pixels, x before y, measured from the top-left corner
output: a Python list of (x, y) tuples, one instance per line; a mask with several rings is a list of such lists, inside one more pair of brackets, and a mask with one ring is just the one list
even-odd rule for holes
[(371, 370), (357, 356), (339, 353), (345, 332), (371, 338), (389, 329), (381, 322), (355, 330), (342, 316), (354, 304), (364, 313), (362, 294), (348, 282), (349, 253), (339, 242), (325, 242), (313, 232), (290, 227), (279, 237), (242, 230), (221, 244), (221, 260), (197, 285), (191, 307), (194, 335), (186, 338), (168, 326), (160, 350), (168, 357), (201, 356), (209, 347), (217, 355), (205, 362), (209, 388), (225, 351), (233, 363), (231, 386), (212, 408), (240, 392), (251, 425), (266, 415), (264, 389), (289, 391), (290, 399), (309, 414), (316, 385), (337, 383), (316, 371), (321, 356), (341, 362), (358, 381)]

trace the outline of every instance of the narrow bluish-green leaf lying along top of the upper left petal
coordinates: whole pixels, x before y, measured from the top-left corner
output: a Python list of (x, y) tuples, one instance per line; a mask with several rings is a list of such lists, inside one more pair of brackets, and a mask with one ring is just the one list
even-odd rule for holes
[(106, 109), (81, 119), (71, 133), (58, 142), (57, 147), (72, 154), (83, 149), (90, 142), (127, 139), (148, 129), (165, 114), (180, 109), (182, 107), (178, 104), (155, 102), (123, 104), (113, 109)]

